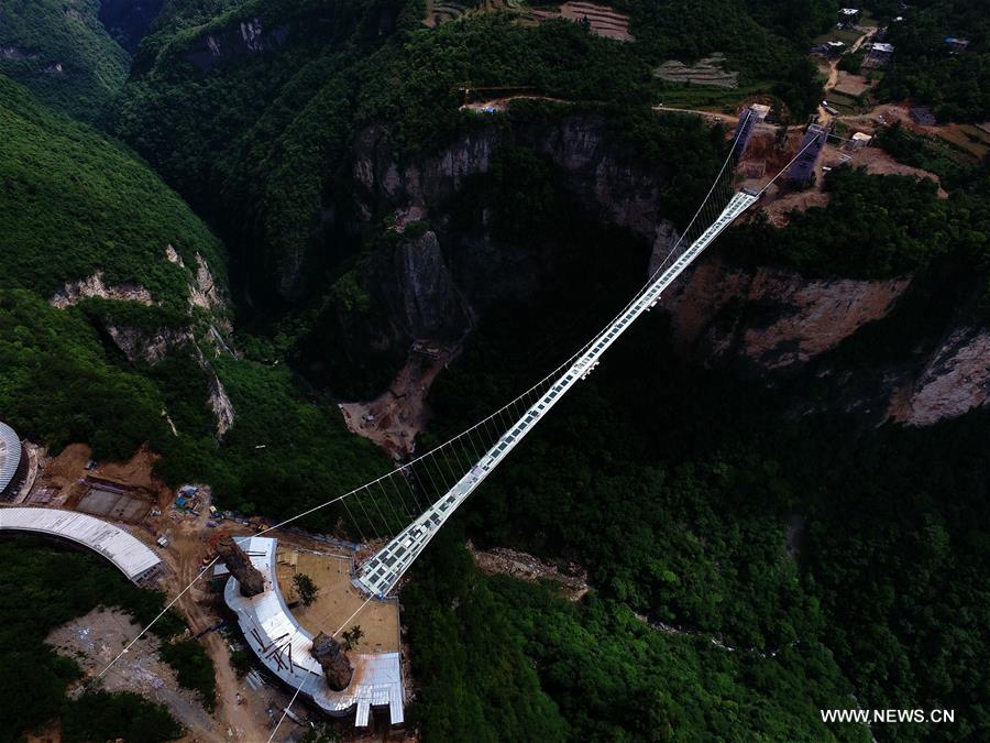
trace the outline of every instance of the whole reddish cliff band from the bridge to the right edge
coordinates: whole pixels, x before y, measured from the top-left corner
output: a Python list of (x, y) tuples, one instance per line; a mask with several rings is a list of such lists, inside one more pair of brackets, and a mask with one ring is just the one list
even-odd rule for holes
[[(870, 358), (862, 348), (856, 363), (833, 356), (870, 324), (886, 323), (888, 334), (910, 324), (899, 315), (910, 288), (909, 276), (809, 280), (782, 269), (740, 269), (716, 253), (663, 305), (682, 358), (798, 390), (795, 414), (842, 409), (875, 424), (927, 426), (986, 405), (990, 332), (952, 314), (937, 329), (920, 327), (898, 358)], [(828, 393), (809, 397), (809, 379)]]

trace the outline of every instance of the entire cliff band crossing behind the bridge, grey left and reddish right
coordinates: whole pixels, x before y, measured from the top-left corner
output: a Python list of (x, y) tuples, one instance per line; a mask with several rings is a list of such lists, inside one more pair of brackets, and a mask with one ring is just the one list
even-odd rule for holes
[[(359, 220), (367, 227), (391, 219), (399, 230), (416, 222), (430, 226), (419, 237), (402, 240), (363, 276), (387, 308), (380, 318), (385, 326), (375, 330), (372, 323), (365, 330), (376, 338), (378, 351), (392, 349), (396, 358), (415, 339), (462, 337), (492, 303), (535, 295), (541, 275), (552, 270), (554, 256), (541, 247), (521, 250), (499, 243), (488, 229), (487, 212), (482, 229), (473, 231), (459, 229), (451, 216), (458, 195), (473, 176), (492, 170), (503, 145), (541, 153), (582, 209), (649, 242), (651, 270), (678, 239), (664, 219), (657, 178), (609, 144), (604, 122), (595, 116), (573, 114), (541, 127), (482, 125), (415, 162), (396, 159), (383, 142), (383, 130), (373, 127), (354, 144), (351, 175)], [(826, 379), (837, 390), (829, 403), (795, 403), (795, 412), (837, 407), (878, 423), (927, 425), (986, 402), (990, 369), (985, 331), (950, 324), (937, 347), (928, 338), (924, 352), (906, 362), (867, 362), (855, 374), (829, 360), (864, 328), (889, 318), (911, 282), (911, 276), (810, 280), (784, 269), (740, 269), (719, 259), (716, 250), (664, 303), (674, 343), (689, 362), (770, 385), (804, 374)]]

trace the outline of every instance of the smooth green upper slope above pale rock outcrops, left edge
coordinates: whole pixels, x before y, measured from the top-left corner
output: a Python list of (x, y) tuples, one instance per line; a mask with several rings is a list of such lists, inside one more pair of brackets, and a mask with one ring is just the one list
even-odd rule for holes
[[(103, 272), (184, 307), (187, 265), (201, 253), (220, 270), (220, 243), (189, 208), (119, 143), (38, 105), (0, 76), (0, 282), (44, 296)], [(222, 275), (222, 274), (221, 274)]]

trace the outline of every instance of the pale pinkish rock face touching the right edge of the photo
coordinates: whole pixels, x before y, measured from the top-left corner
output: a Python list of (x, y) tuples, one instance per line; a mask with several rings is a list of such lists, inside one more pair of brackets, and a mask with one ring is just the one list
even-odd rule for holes
[(990, 331), (958, 328), (949, 335), (919, 374), (900, 390), (890, 416), (928, 426), (986, 405), (990, 400)]

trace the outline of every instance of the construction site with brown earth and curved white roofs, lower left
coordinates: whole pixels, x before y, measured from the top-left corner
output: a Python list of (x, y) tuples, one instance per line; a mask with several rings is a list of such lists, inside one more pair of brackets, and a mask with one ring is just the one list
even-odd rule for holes
[[(175, 669), (160, 657), (161, 641), (154, 634), (142, 635), (131, 616), (102, 608), (56, 629), (47, 640), (82, 668), (77, 689), (112, 662), (100, 677), (102, 688), (138, 691), (164, 704), (185, 728), (185, 740), (263, 741), (279, 721), (279, 735), (289, 739), (330, 722), (348, 740), (405, 736), (408, 682), (399, 604), (366, 601), (351, 582), (359, 545), (298, 529), (255, 537), (265, 523), (218, 511), (206, 485), (168, 488), (154, 476), (156, 456), (144, 449), (124, 462), (103, 462), (95, 461), (81, 444), (48, 456), (24, 442), (21, 467), (20, 457), (15, 462), (7, 458), (10, 441), (21, 444), (12, 429), (4, 440), (11, 482), (8, 503), (0, 509), (0, 535), (34, 534), (95, 551), (132, 582), (178, 597), (175, 608), (188, 626), (186, 636), (201, 643), (212, 662), (217, 699), (212, 708), (184, 688)], [(237, 581), (228, 581), (218, 554), (218, 545), (232, 539), (272, 547), (273, 559), (260, 564), (266, 572), (264, 608), (250, 612), (246, 621), (243, 604), (227, 600), (232, 594), (228, 582)], [(251, 559), (256, 559), (254, 551)], [(218, 566), (216, 575), (204, 572), (211, 560)], [(306, 596), (300, 586), (308, 589)], [(333, 703), (310, 695), (285, 712), (298, 682), (280, 678), (284, 673), (272, 660), (277, 655), (272, 646), (286, 637), (255, 642), (258, 632), (279, 622), (292, 627), (299, 646), (293, 663), (299, 660), (315, 682), (323, 676), (310, 654), (314, 640), (324, 636), (337, 643), (352, 670), (348, 684), (331, 692)], [(346, 645), (341, 647), (344, 635)], [(122, 648), (128, 652), (118, 658)], [(299, 666), (295, 668), (298, 673)], [(48, 733), (57, 736), (57, 731)]]

